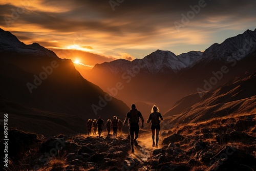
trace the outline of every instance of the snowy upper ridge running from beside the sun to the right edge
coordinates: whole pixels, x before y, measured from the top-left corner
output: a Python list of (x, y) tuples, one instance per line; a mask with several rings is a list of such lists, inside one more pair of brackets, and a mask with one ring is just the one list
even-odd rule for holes
[[(110, 71), (114, 74), (131, 71), (137, 68), (143, 73), (155, 75), (158, 73), (179, 73), (183, 69), (193, 67), (196, 63), (220, 61), (229, 63), (241, 60), (256, 51), (256, 29), (247, 30), (243, 34), (226, 39), (221, 44), (213, 44), (204, 53), (190, 51), (175, 55), (170, 51), (157, 50), (143, 59), (133, 61), (118, 59), (96, 65), (92, 71)], [(139, 68), (138, 68), (139, 67)]]

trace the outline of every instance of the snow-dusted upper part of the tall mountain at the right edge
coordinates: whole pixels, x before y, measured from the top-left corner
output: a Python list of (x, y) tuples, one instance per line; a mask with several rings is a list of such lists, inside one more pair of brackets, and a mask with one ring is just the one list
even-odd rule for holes
[(213, 44), (201, 56), (201, 61), (221, 60), (226, 63), (241, 60), (256, 50), (256, 29), (247, 30), (243, 34), (227, 38), (221, 44)]

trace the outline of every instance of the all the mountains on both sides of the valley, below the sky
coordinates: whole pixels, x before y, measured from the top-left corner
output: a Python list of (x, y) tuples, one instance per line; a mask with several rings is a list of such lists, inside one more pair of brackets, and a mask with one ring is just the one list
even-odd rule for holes
[(204, 52), (157, 50), (79, 73), (71, 60), (0, 29), (0, 113), (12, 127), (45, 135), (84, 133), (99, 116), (123, 120), (134, 102), (145, 119), (156, 104), (170, 124), (247, 113), (255, 106), (255, 56), (256, 30), (247, 30)]

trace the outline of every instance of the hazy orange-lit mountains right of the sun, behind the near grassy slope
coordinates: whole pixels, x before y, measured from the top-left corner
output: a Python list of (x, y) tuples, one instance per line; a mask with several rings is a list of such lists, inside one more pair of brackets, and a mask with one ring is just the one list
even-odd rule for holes
[(138, 102), (143, 109), (148, 104), (144, 113), (150, 112), (152, 104), (166, 112), (184, 96), (218, 88), (234, 77), (253, 71), (255, 51), (256, 30), (247, 30), (204, 52), (175, 55), (157, 50), (142, 59), (117, 59), (81, 73), (110, 94), (116, 83), (121, 82), (123, 89), (113, 95), (126, 104)]

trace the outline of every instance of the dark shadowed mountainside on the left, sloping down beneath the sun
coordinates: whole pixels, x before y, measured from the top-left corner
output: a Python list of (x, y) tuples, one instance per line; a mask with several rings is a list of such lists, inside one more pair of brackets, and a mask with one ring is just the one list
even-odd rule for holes
[(2, 29), (0, 80), (0, 112), (8, 113), (10, 127), (25, 131), (85, 133), (88, 119), (101, 116), (106, 121), (116, 115), (123, 120), (129, 111), (84, 79), (71, 60), (36, 43), (25, 45)]

